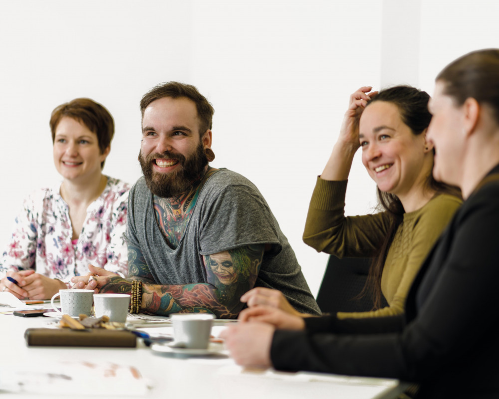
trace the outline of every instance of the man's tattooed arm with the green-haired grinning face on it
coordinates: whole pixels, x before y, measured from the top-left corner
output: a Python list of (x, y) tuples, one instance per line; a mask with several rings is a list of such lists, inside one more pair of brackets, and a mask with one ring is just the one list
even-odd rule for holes
[[(149, 268), (145, 263), (135, 262), (142, 267), (134, 269), (134, 274), (129, 274), (127, 280), (110, 277), (101, 292), (129, 293), (131, 279), (138, 277), (143, 281), (141, 312), (161, 315), (208, 312), (217, 318), (235, 318), (244, 306), (240, 301), (241, 295), (255, 284), (263, 252), (264, 245), (261, 244), (204, 255), (208, 283), (186, 285), (150, 284), (144, 278)], [(134, 266), (130, 264), (129, 267)]]

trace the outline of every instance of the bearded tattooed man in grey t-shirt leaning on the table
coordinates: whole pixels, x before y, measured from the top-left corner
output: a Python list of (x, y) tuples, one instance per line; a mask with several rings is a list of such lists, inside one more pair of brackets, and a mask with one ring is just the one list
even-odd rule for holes
[[(275, 288), (320, 314), (286, 237), (256, 187), (209, 166), (213, 107), (196, 87), (159, 85), (140, 103), (144, 176), (128, 203), (128, 277), (90, 266), (76, 288), (132, 294), (132, 312), (235, 318), (241, 295)], [(244, 261), (243, 261), (244, 260)]]

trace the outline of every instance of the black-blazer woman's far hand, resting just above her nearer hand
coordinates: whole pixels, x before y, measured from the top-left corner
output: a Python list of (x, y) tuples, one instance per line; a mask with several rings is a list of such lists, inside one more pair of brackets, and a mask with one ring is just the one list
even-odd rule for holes
[(264, 322), (281, 330), (304, 330), (305, 321), (302, 317), (290, 315), (283, 310), (270, 306), (254, 306), (244, 309), (238, 319), (241, 322)]

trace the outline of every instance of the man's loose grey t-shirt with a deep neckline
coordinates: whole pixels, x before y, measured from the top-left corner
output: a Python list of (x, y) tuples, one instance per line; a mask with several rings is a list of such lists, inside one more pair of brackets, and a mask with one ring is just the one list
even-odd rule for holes
[(281, 291), (299, 312), (319, 314), (301, 267), (277, 220), (256, 187), (245, 177), (221, 169), (203, 186), (176, 249), (156, 221), (152, 193), (141, 177), (128, 200), (129, 246), (139, 248), (158, 284), (207, 283), (203, 255), (250, 244), (271, 244), (255, 286)]

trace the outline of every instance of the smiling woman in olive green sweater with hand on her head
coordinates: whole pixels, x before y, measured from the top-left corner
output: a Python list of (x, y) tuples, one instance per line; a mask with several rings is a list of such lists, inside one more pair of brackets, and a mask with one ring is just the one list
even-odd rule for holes
[[(375, 259), (368, 284), (378, 309), (339, 312), (339, 318), (403, 313), (421, 264), (461, 204), (456, 189), (432, 176), (433, 144), (426, 140), (429, 95), (409, 86), (370, 91), (361, 87), (350, 96), (338, 140), (317, 178), (303, 233), (304, 242), (319, 252)], [(383, 211), (345, 217), (347, 179), (359, 147)], [(389, 306), (379, 308), (381, 295)], [(275, 290), (256, 288), (241, 300), (297, 314)]]

